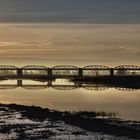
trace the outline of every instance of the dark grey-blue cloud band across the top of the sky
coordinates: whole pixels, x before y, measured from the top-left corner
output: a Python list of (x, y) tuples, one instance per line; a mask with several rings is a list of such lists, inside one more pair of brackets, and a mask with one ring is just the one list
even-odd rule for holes
[(0, 22), (140, 23), (140, 0), (0, 0)]

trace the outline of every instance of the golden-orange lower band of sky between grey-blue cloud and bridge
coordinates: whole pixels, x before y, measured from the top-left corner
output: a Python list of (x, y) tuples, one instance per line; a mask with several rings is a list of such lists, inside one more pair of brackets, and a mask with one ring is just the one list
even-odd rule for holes
[(0, 24), (0, 64), (139, 65), (140, 25)]

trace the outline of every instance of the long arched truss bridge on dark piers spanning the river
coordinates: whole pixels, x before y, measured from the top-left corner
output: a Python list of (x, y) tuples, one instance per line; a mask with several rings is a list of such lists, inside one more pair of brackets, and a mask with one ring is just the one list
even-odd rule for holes
[(72, 77), (112, 77), (140, 76), (140, 67), (121, 65), (110, 68), (103, 65), (76, 67), (57, 65), (52, 68), (40, 65), (27, 65), (21, 68), (12, 65), (0, 65), (0, 78), (72, 78)]

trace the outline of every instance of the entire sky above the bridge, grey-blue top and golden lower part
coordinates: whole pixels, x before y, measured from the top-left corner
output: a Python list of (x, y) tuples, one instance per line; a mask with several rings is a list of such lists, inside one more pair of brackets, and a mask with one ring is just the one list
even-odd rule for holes
[(140, 0), (0, 0), (0, 64), (139, 60)]

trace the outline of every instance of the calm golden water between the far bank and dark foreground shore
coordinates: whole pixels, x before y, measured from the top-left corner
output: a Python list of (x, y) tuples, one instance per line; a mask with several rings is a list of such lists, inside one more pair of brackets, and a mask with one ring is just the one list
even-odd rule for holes
[[(20, 82), (20, 81), (19, 81)], [(66, 79), (48, 82), (22, 80), (0, 81), (0, 103), (47, 107), (59, 111), (115, 112), (125, 120), (140, 121), (140, 90), (82, 85), (78, 87)]]

